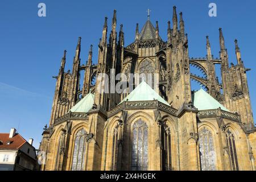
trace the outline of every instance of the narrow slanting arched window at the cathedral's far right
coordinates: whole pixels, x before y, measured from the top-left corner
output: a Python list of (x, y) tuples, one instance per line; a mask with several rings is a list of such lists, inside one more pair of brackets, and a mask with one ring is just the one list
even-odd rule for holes
[(228, 148), (229, 148), (229, 155), (230, 155), (232, 170), (239, 171), (236, 140), (234, 138), (233, 133), (229, 129), (226, 131), (226, 143), (228, 144)]

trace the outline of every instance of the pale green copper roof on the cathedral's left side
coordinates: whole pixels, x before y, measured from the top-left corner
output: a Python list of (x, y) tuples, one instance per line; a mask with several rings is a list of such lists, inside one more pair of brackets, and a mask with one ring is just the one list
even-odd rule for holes
[(84, 98), (81, 99), (75, 106), (71, 108), (71, 112), (87, 113), (92, 109), (94, 104), (94, 94), (88, 93)]

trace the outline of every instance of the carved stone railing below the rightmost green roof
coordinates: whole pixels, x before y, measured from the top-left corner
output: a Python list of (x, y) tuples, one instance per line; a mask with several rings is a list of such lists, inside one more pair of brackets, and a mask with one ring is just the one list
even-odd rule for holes
[(201, 110), (197, 113), (199, 118), (212, 118), (212, 117), (222, 117), (230, 119), (232, 121), (241, 122), (241, 117), (239, 114), (230, 113), (228, 111), (214, 109), (214, 110)]

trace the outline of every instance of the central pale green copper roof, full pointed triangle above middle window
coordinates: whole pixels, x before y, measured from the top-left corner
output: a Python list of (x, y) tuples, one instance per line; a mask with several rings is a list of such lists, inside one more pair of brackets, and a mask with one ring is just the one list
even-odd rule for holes
[(159, 96), (158, 93), (155, 92), (145, 81), (142, 81), (127, 97), (125, 97), (120, 103), (123, 101), (153, 101), (158, 100), (163, 104), (168, 104), (162, 97)]

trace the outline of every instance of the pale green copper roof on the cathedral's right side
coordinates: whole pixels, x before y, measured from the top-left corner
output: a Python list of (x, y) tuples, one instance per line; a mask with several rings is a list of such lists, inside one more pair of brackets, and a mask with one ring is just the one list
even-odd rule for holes
[(218, 109), (218, 107), (221, 107), (222, 110), (229, 111), (202, 88), (192, 95), (192, 101), (198, 110)]

